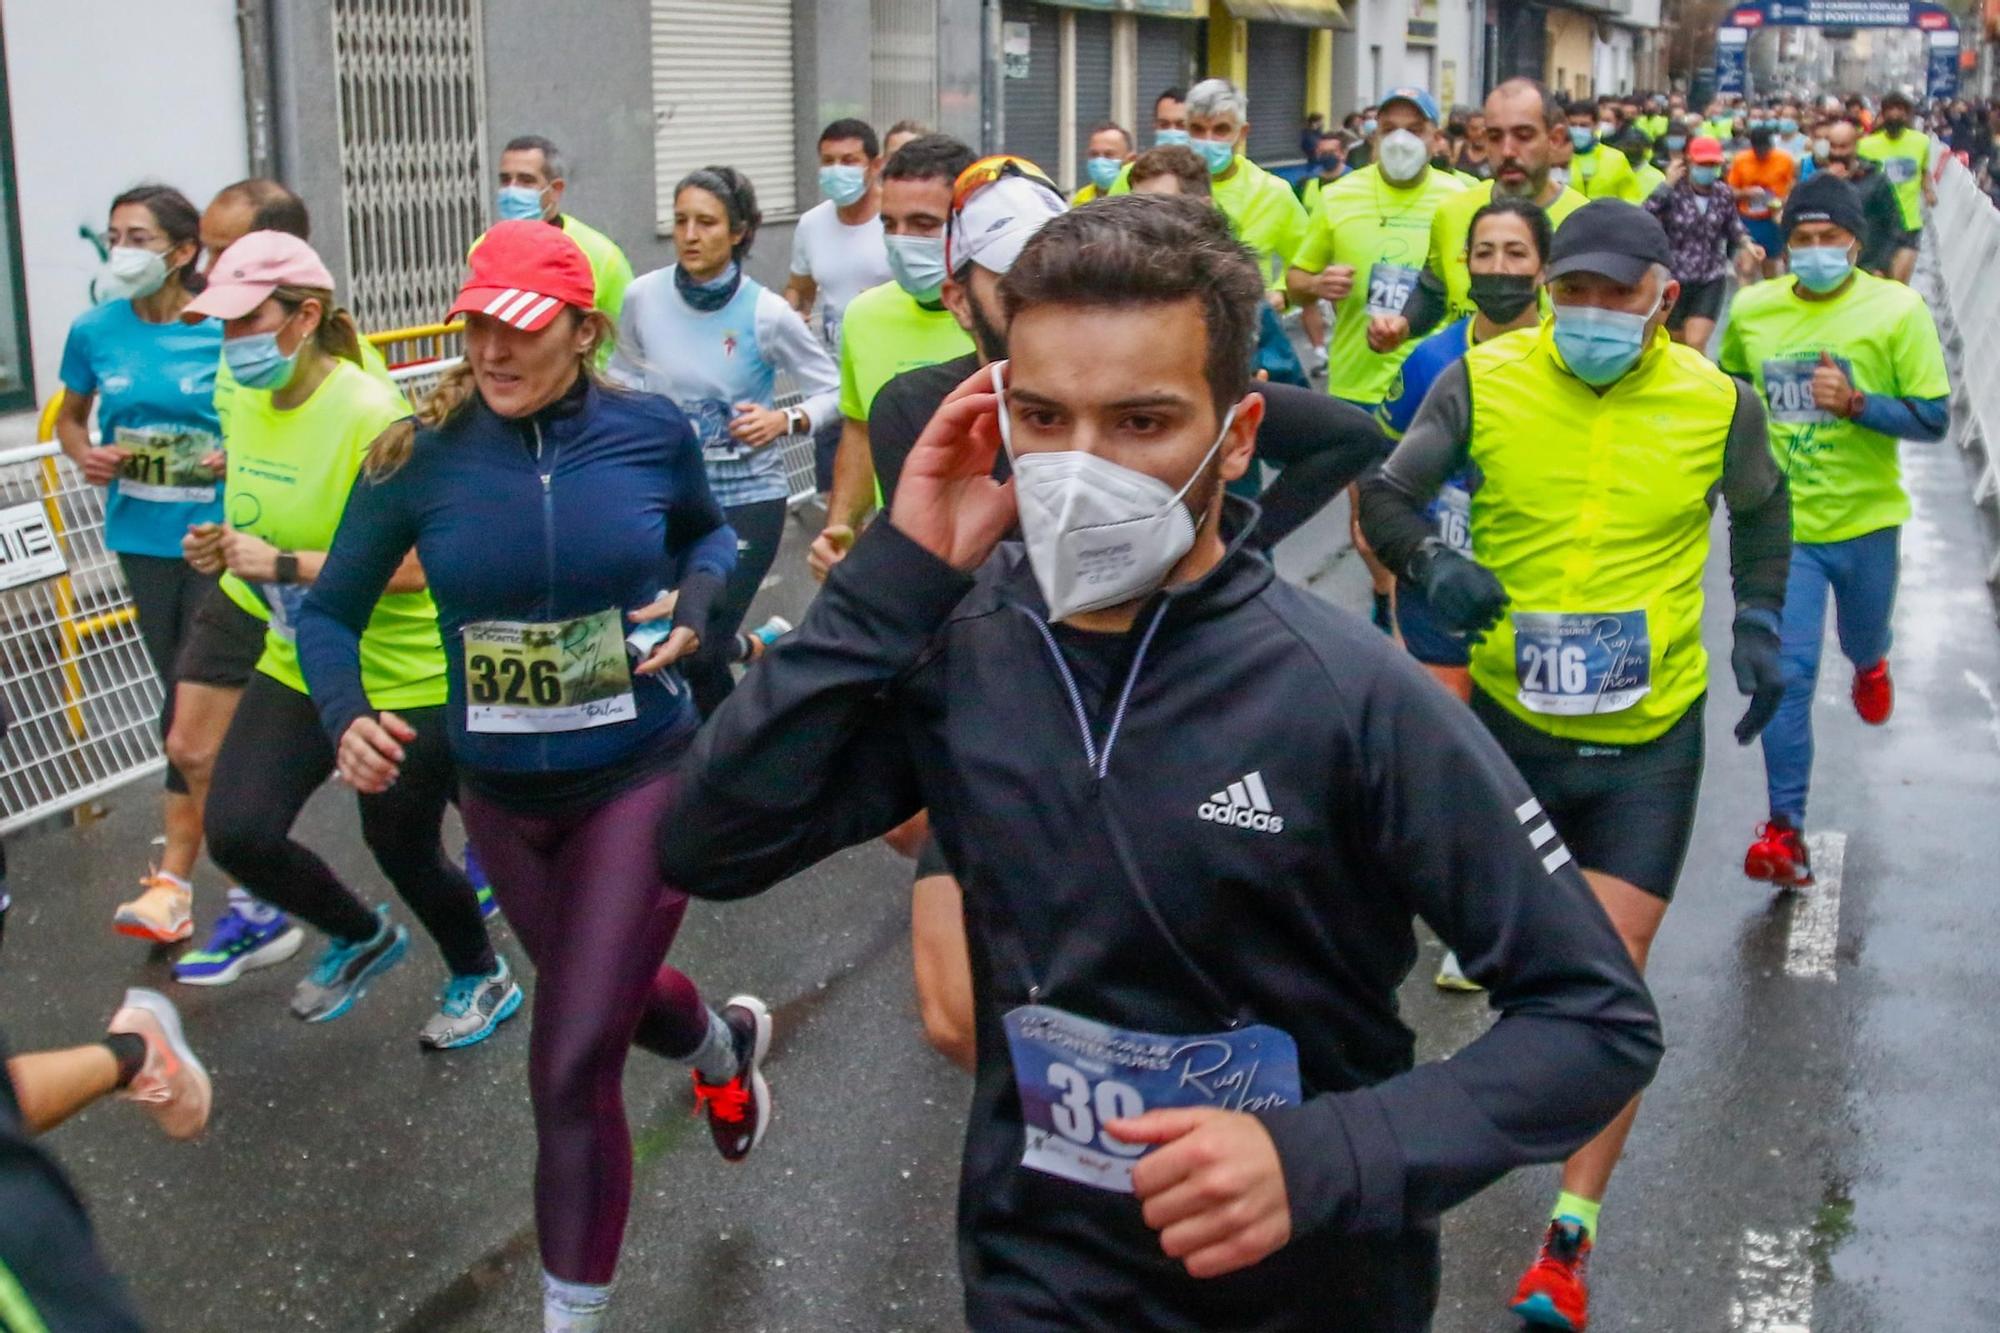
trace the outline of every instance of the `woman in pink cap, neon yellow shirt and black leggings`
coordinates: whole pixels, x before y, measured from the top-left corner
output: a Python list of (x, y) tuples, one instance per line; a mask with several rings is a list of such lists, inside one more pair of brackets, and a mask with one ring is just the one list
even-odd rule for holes
[[(394, 967), (410, 933), (368, 909), (290, 829), (334, 773), (298, 666), (298, 606), (320, 576), (370, 442), (408, 414), (402, 394), (360, 368), (354, 320), (334, 278), (298, 236), (250, 232), (216, 260), (182, 318), (222, 320), (236, 380), (224, 526), (190, 528), (182, 550), (202, 572), (228, 570), (270, 610), (264, 654), (244, 689), (208, 789), (208, 851), (264, 903), (326, 935), (292, 993), (308, 1023), (338, 1019)], [(370, 604), (362, 640), (368, 699), (392, 719), (404, 775), (360, 797), (362, 839), (438, 943), (450, 977), (418, 1041), (484, 1041), (520, 1009), (466, 877), (444, 857), (440, 825), (454, 787), (444, 741), (444, 648), (422, 570), (398, 552), (396, 580)], [(234, 584), (224, 584), (234, 586)]]

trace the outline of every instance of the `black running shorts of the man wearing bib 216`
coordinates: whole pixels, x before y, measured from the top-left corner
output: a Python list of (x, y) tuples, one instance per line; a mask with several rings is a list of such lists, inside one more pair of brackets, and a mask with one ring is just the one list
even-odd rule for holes
[(1472, 711), (1528, 781), (1576, 865), (1672, 899), (1702, 791), (1702, 705), (1640, 745), (1562, 741), (1472, 691)]

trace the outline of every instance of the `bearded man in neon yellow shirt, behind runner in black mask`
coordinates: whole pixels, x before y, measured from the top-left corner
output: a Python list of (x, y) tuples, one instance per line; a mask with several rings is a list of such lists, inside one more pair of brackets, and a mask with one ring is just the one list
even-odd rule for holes
[(1388, 352), (1412, 334), (1430, 332), (1440, 320), (1472, 314), (1466, 240), (1472, 236), (1472, 216), (1494, 196), (1532, 198), (1548, 212), (1550, 226), (1562, 226), (1564, 218), (1588, 202), (1550, 176), (1556, 148), (1566, 148), (1568, 142), (1562, 102), (1532, 78), (1510, 78), (1486, 94), (1486, 160), (1494, 178), (1466, 186), (1438, 204), (1430, 218), (1424, 272), (1402, 314), (1376, 314), (1368, 320), (1370, 348)]

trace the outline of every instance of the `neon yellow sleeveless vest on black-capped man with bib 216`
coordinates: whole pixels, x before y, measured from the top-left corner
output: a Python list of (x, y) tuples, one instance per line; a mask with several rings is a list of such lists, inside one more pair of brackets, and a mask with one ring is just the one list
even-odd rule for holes
[[(1598, 394), (1562, 364), (1552, 328), (1544, 320), (1466, 352), (1482, 474), (1472, 548), (1508, 592), (1500, 624), (1472, 648), (1472, 679), (1546, 735), (1636, 745), (1708, 689), (1702, 570), (1736, 384), (1660, 330)], [(1632, 642), (1646, 650), (1612, 671), (1594, 662), (1580, 689), (1582, 648), (1562, 648), (1578, 660), (1564, 660), (1558, 681), (1556, 620), (1640, 624)]]

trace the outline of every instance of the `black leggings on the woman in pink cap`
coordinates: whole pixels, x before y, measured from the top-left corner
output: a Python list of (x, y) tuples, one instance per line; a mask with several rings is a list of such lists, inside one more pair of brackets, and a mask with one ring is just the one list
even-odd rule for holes
[[(396, 709), (416, 729), (402, 777), (380, 797), (358, 797), (362, 841), (396, 893), (438, 941), (456, 977), (494, 969), (478, 897), (444, 855), (438, 829), (456, 773), (444, 709)], [(334, 773), (334, 747), (312, 701), (264, 673), (250, 679), (216, 755), (208, 789), (208, 855), (272, 907), (354, 943), (380, 925), (368, 905), (316, 855), (292, 841), (292, 823)]]

